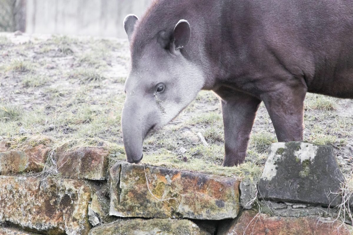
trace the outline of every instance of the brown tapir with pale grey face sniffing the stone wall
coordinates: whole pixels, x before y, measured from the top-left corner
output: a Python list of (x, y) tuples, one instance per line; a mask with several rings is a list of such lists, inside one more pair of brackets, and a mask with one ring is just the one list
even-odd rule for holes
[(303, 140), (307, 92), (353, 98), (352, 0), (156, 0), (124, 20), (131, 64), (122, 136), (143, 141), (212, 90), (222, 106), (223, 166), (243, 163), (263, 101), (279, 142)]

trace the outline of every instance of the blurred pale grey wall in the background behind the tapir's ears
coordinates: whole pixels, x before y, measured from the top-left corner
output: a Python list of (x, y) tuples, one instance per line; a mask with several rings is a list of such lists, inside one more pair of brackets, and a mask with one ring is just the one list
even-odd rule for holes
[(125, 38), (127, 14), (141, 16), (151, 0), (27, 0), (27, 33)]

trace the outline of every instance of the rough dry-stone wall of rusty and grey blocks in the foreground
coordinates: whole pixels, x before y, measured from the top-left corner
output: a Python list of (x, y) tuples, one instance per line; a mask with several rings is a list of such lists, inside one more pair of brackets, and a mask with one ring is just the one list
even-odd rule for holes
[(64, 147), (0, 142), (0, 235), (352, 234), (331, 147), (276, 143), (258, 183)]

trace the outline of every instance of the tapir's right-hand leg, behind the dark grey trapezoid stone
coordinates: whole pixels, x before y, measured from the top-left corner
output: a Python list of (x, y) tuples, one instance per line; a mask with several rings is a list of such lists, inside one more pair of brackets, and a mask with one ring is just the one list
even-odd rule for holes
[(279, 142), (303, 140), (304, 98), (307, 88), (301, 84), (280, 85), (261, 95)]

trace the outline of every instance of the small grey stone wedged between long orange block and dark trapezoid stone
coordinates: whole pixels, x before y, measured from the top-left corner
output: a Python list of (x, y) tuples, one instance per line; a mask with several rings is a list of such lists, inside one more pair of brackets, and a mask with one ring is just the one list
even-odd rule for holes
[(257, 188), (256, 181), (251, 182), (249, 179), (245, 179), (240, 183), (240, 203), (244, 209), (250, 210), (256, 199)]

